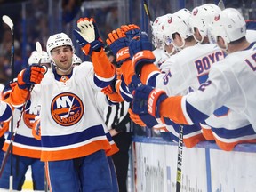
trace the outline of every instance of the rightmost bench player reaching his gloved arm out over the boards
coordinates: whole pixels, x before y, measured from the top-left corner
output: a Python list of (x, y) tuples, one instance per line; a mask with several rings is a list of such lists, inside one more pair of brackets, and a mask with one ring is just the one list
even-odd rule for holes
[[(253, 44), (246, 41), (245, 31), (244, 18), (236, 9), (221, 11), (212, 20), (211, 34), (220, 48), (228, 52), (228, 56), (212, 66), (207, 81), (198, 90), (183, 97), (168, 97), (164, 91), (141, 85), (134, 92), (134, 102), (148, 103), (149, 106), (133, 105), (133, 112), (168, 117), (178, 124), (196, 124), (225, 105), (246, 116), (256, 130), (252, 99), (255, 98), (252, 81), (255, 79), (256, 52), (250, 49)], [(134, 65), (138, 65), (139, 61), (136, 60)]]

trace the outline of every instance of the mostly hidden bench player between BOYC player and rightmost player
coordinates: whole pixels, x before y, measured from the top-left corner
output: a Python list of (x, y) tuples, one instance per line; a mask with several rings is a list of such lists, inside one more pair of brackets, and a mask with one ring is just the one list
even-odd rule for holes
[[(204, 4), (192, 11), (190, 26), (197, 41), (203, 44), (209, 43), (206, 37), (209, 34), (207, 32), (209, 27), (206, 24), (210, 23), (212, 19), (212, 14), (209, 14), (211, 8), (219, 9), (214, 4)], [(205, 123), (201, 123), (201, 126), (204, 137), (207, 140), (216, 140), (217, 145), (223, 150), (232, 150), (240, 142), (256, 141), (256, 135), (252, 132), (252, 126), (246, 117), (224, 106), (215, 110), (214, 114), (205, 120)], [(243, 132), (239, 132), (239, 130), (243, 130)]]

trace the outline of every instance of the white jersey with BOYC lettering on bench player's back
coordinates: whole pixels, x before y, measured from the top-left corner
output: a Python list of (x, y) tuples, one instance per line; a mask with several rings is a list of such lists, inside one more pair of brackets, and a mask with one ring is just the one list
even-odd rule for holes
[[(204, 83), (212, 64), (223, 60), (224, 57), (224, 52), (215, 44), (189, 46), (166, 60), (160, 67), (162, 73), (156, 77), (149, 76), (147, 84), (152, 86), (156, 84), (156, 88), (163, 89), (170, 96), (185, 95), (189, 89), (196, 89)], [(172, 132), (172, 135), (177, 135), (180, 125), (166, 121), (165, 123), (172, 124), (172, 127), (167, 129)], [(200, 140), (205, 140), (199, 124), (188, 127), (185, 125), (183, 131), (184, 143), (188, 148), (194, 147)], [(178, 140), (178, 138), (174, 137), (172, 140)]]

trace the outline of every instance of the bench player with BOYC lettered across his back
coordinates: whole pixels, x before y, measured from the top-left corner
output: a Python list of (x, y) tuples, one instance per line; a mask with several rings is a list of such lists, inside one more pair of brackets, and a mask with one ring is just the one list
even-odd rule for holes
[[(166, 30), (164, 34), (181, 51), (164, 62), (162, 66), (166, 66), (164, 67), (165, 74), (159, 73), (156, 76), (156, 72), (153, 73), (153, 71), (157, 69), (154, 69), (152, 65), (145, 65), (142, 68), (135, 66), (135, 71), (140, 74), (142, 84), (163, 89), (168, 95), (183, 95), (188, 92), (189, 88), (195, 89), (200, 85), (200, 81), (205, 81), (204, 76), (208, 74), (212, 63), (224, 58), (224, 53), (216, 45), (196, 44), (188, 25), (190, 15), (186, 9), (178, 14), (170, 15), (169, 22), (164, 25)], [(207, 64), (205, 68), (203, 62)], [(163, 123), (172, 124), (171, 122)], [(173, 127), (175, 131), (170, 130), (174, 136), (173, 140), (178, 140), (179, 125), (173, 124)], [(205, 140), (201, 133), (201, 127), (198, 125), (184, 127), (183, 140), (188, 148), (194, 147), (200, 140)]]

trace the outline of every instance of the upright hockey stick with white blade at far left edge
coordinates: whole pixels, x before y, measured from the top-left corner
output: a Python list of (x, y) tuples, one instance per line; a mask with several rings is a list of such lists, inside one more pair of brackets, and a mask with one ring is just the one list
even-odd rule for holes
[[(11, 18), (7, 15), (3, 15), (2, 20), (12, 31), (12, 50), (11, 50), (11, 65), (12, 65), (12, 76), (11, 76), (11, 81), (14, 79), (14, 28), (13, 28), (13, 22)], [(11, 132), (13, 132), (13, 120), (11, 121)], [(11, 154), (12, 154), (12, 148), (11, 148)], [(10, 173), (10, 186), (9, 189), (12, 191), (12, 178), (13, 178), (13, 173), (12, 173), (12, 156), (11, 156), (11, 173)], [(0, 174), (1, 176), (1, 174)]]

